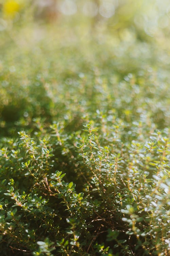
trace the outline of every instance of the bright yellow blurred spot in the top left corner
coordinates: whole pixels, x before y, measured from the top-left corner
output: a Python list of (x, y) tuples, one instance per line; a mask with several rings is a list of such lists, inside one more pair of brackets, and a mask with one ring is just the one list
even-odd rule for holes
[(3, 14), (13, 18), (21, 9), (21, 3), (17, 0), (8, 0), (3, 4)]

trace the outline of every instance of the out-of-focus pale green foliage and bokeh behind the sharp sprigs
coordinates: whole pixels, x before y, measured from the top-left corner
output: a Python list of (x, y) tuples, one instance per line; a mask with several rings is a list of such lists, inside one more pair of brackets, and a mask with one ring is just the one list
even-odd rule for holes
[(1, 131), (96, 109), (167, 127), (169, 24), (168, 0), (1, 1)]

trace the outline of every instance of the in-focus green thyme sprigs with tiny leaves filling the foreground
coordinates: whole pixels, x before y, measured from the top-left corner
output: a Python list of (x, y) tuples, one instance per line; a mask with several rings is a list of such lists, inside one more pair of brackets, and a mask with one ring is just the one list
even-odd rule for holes
[(143, 143), (125, 137), (140, 137), (139, 124), (103, 125), (68, 135), (53, 124), (34, 139), (3, 139), (4, 255), (168, 255), (167, 129)]

